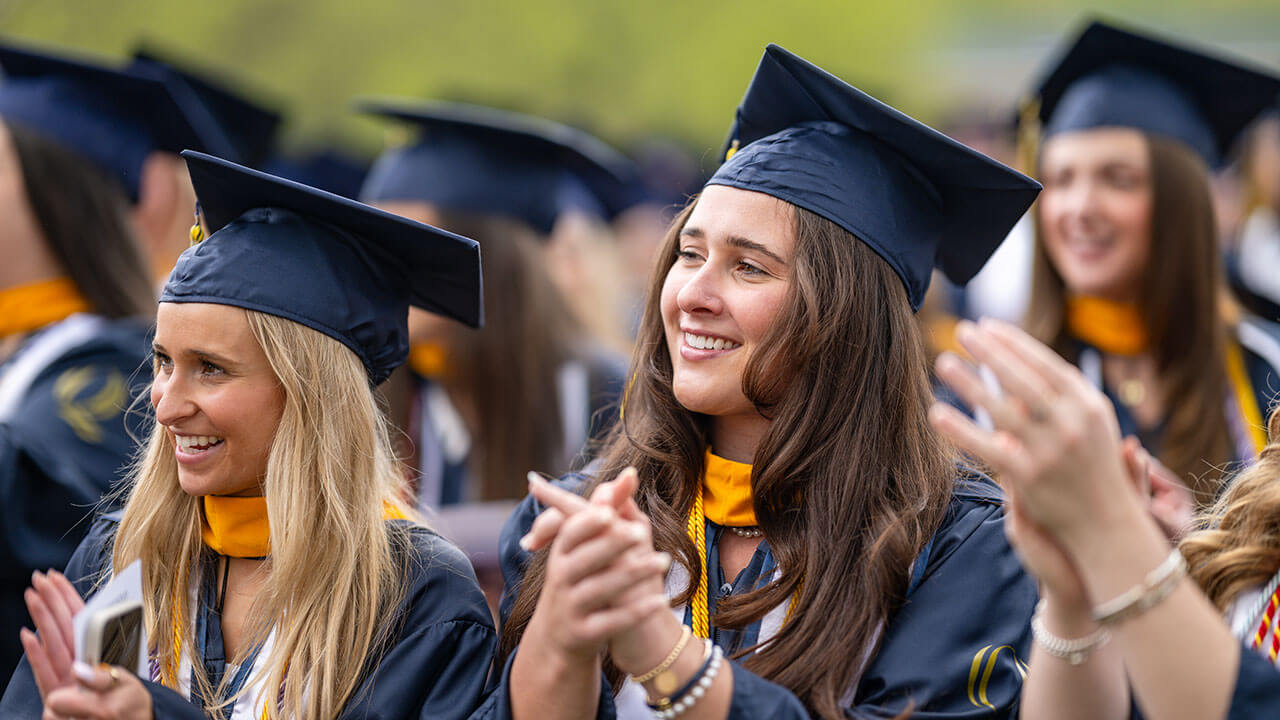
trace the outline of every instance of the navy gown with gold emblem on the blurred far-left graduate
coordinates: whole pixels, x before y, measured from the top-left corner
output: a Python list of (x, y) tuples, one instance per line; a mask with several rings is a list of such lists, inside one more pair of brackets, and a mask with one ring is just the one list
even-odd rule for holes
[(0, 676), (22, 656), (31, 573), (67, 565), (142, 437), (142, 415), (125, 410), (151, 379), (150, 352), (142, 322), (82, 314), (0, 366), (0, 387), (15, 383), (0, 391)]

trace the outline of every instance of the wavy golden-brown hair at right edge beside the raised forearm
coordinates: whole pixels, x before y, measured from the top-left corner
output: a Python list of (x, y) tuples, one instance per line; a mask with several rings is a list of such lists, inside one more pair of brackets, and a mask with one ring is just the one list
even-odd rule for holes
[(1192, 578), (1219, 610), (1280, 569), (1280, 411), (1257, 464), (1243, 470), (1202, 521), (1206, 529), (1181, 542)]

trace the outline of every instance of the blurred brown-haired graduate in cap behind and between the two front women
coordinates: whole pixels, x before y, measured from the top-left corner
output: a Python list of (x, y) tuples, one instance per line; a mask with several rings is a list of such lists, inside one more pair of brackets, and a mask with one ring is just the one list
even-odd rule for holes
[[(518, 500), (526, 471), (568, 470), (617, 416), (625, 363), (575, 319), (545, 245), (563, 214), (607, 213), (595, 188), (621, 188), (625, 159), (586, 133), (515, 113), (390, 100), (358, 108), (419, 133), (378, 159), (361, 197), (484, 247), (483, 331), (411, 314), (404, 427), (419, 502)], [(388, 393), (402, 401), (402, 388)]]

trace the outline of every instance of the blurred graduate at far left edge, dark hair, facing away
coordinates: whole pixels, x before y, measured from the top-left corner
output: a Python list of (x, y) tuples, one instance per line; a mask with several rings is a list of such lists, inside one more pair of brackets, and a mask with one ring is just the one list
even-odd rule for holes
[(31, 573), (67, 564), (88, 529), (82, 519), (133, 455), (136, 423), (127, 425), (125, 409), (148, 379), (155, 313), (138, 233), (168, 224), (160, 220), (178, 195), (159, 143), (198, 138), (166, 87), (147, 76), (12, 46), (0, 47), (0, 72), (6, 676), (22, 652)]

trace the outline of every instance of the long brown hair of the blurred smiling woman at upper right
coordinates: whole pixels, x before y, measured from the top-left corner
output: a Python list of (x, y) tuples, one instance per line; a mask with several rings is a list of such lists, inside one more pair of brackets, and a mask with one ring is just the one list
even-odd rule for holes
[[(1228, 325), (1213, 204), (1204, 163), (1183, 145), (1144, 136), (1151, 163), (1151, 251), (1138, 305), (1160, 373), (1167, 420), (1160, 460), (1208, 502), (1233, 460), (1224, 401)], [(1036, 264), (1025, 325), (1075, 361), (1066, 327), (1066, 287), (1036, 228)]]

